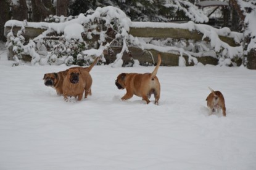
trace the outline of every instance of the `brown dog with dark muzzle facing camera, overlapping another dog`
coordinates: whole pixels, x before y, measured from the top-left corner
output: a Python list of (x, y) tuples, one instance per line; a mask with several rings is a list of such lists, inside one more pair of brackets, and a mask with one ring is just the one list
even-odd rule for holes
[(87, 98), (88, 95), (91, 95), (92, 83), (93, 79), (91, 79), (88, 71), (78, 68), (68, 69), (62, 85), (64, 100), (68, 101), (68, 96), (78, 96), (78, 101), (81, 101), (83, 91), (85, 91), (85, 98)]

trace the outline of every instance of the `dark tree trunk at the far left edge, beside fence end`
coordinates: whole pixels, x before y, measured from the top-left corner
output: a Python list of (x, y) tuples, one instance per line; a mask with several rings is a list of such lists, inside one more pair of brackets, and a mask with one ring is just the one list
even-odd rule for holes
[(9, 2), (7, 0), (0, 1), (0, 41), (6, 41), (4, 36), (4, 24), (10, 19)]

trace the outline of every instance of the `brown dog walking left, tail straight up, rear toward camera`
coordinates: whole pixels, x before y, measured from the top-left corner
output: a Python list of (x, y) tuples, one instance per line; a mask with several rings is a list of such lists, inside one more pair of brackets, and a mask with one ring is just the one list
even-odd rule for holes
[(149, 104), (149, 98), (154, 94), (155, 104), (159, 104), (160, 98), (160, 83), (157, 79), (157, 70), (161, 63), (161, 56), (158, 55), (157, 66), (152, 73), (122, 73), (117, 76), (115, 85), (118, 89), (126, 89), (126, 94), (122, 97), (122, 100), (127, 100), (133, 97), (133, 95), (142, 97), (142, 100)]

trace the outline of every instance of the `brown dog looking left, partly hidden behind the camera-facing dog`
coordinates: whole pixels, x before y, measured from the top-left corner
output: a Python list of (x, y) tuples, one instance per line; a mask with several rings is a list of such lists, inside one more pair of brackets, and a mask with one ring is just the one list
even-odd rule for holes
[[(93, 63), (87, 68), (82, 68), (82, 67), (73, 67), (73, 68), (78, 68), (80, 70), (90, 72), (98, 60), (99, 60), (99, 57), (97, 57), (93, 61)], [(44, 78), (43, 78), (44, 85), (56, 89), (57, 95), (63, 95), (62, 84), (63, 84), (63, 80), (65, 78), (65, 75), (67, 75), (67, 72), (68, 72), (68, 69), (65, 71), (44, 74)]]

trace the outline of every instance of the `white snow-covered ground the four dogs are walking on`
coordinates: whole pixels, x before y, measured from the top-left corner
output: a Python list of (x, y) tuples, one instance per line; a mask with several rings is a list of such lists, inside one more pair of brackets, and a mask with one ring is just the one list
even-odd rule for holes
[[(256, 71), (160, 67), (155, 106), (115, 87), (154, 67), (94, 66), (93, 95), (65, 102), (43, 75), (67, 66), (12, 67), (0, 48), (0, 169), (256, 169)], [(208, 115), (209, 86), (227, 117)]]

